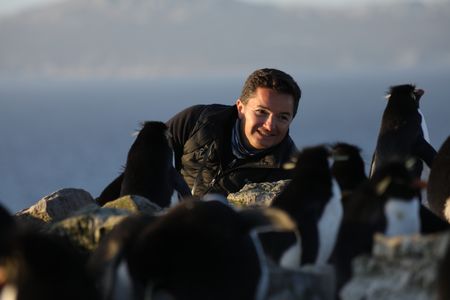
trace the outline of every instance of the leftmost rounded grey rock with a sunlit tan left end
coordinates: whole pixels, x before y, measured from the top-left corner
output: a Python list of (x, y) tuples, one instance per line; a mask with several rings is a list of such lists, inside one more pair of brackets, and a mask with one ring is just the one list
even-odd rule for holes
[(82, 189), (65, 188), (16, 213), (20, 222), (43, 225), (60, 221), (80, 208), (95, 204), (91, 194)]

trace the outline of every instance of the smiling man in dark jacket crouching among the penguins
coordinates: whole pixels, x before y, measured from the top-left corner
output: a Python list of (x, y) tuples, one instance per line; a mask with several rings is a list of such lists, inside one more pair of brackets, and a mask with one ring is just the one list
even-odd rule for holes
[(301, 90), (276, 69), (260, 69), (246, 80), (236, 105), (196, 105), (167, 122), (175, 167), (193, 195), (227, 195), (246, 183), (290, 178), (282, 165), (296, 147), (289, 126)]

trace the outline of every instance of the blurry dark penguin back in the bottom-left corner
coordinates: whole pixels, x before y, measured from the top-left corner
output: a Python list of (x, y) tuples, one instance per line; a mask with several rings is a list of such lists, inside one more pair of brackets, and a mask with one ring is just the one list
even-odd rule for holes
[(15, 299), (99, 299), (84, 257), (66, 239), (27, 229), (15, 235), (13, 250), (2, 263)]

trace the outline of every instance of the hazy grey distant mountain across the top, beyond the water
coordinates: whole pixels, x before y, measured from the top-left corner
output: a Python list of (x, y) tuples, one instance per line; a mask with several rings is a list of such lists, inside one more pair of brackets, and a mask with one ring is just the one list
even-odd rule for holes
[(71, 0), (0, 18), (1, 76), (449, 68), (450, 2), (276, 8), (232, 0)]

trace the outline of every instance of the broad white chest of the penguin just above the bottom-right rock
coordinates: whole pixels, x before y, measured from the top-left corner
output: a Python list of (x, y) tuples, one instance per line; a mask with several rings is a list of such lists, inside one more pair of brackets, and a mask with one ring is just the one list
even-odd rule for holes
[(409, 201), (391, 198), (384, 207), (387, 219), (386, 236), (420, 233), (419, 200)]

